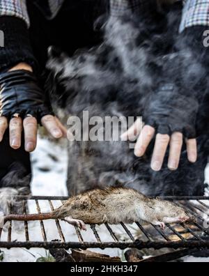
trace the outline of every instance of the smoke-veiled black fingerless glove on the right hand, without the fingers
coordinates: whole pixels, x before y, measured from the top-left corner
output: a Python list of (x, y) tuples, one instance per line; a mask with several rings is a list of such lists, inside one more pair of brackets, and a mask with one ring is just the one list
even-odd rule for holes
[(181, 132), (192, 139), (196, 137), (199, 102), (179, 91), (180, 87), (173, 84), (162, 84), (150, 99), (145, 123), (155, 128), (157, 133), (171, 135), (173, 132)]

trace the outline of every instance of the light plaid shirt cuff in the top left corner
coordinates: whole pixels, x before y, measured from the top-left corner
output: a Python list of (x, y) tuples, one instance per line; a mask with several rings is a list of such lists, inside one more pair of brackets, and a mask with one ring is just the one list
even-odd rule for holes
[(0, 16), (3, 15), (19, 17), (29, 26), (26, 0), (0, 0)]

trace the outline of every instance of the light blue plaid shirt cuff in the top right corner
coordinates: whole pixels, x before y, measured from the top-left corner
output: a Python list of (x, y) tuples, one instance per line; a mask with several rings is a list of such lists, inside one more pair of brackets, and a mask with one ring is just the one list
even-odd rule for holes
[(186, 0), (179, 31), (190, 26), (209, 26), (209, 0)]

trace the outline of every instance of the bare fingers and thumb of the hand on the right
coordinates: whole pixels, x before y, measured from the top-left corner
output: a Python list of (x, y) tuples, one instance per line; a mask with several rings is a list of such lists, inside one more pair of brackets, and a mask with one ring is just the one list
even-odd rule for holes
[[(155, 128), (150, 125), (142, 126), (141, 119), (138, 119), (132, 127), (122, 135), (122, 139), (132, 140), (138, 134), (137, 143), (134, 148), (134, 154), (137, 157), (142, 157), (155, 136)], [(197, 149), (196, 139), (186, 139), (187, 157), (189, 162), (196, 162)], [(173, 132), (171, 136), (161, 135), (157, 133), (155, 139), (155, 147), (153, 150), (153, 158), (151, 161), (151, 168), (154, 171), (160, 171), (167, 148), (169, 147), (169, 161), (168, 167), (171, 170), (178, 169), (180, 154), (183, 146), (183, 134), (181, 132)]]

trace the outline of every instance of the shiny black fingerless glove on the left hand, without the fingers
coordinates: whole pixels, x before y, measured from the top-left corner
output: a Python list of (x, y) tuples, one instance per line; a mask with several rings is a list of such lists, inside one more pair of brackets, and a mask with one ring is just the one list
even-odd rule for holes
[(32, 72), (15, 70), (0, 75), (0, 115), (10, 119), (14, 114), (22, 118), (31, 115), (40, 119), (53, 114), (45, 93), (38, 86)]

